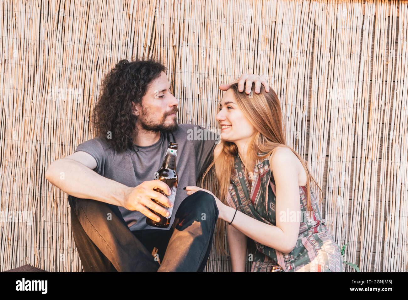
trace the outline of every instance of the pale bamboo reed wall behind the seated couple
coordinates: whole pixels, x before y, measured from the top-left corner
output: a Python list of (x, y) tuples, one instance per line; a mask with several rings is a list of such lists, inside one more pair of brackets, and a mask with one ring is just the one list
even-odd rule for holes
[[(407, 1), (9, 1), (0, 4), (0, 271), (80, 271), (67, 194), (49, 164), (90, 136), (103, 75), (160, 58), (179, 122), (216, 129), (218, 85), (268, 79), (288, 144), (361, 271), (407, 271)], [(314, 190), (317, 193), (317, 189)], [(212, 251), (207, 271), (228, 271)], [(350, 267), (347, 267), (351, 271)]]

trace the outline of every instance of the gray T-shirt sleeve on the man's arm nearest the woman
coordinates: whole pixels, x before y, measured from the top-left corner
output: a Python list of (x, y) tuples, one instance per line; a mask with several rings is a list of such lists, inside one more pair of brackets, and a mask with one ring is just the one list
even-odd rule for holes
[(196, 174), (197, 178), (200, 178), (213, 161), (213, 152), (219, 136), (204, 127), (197, 127), (200, 127), (203, 133), (202, 138), (197, 139), (195, 144)]

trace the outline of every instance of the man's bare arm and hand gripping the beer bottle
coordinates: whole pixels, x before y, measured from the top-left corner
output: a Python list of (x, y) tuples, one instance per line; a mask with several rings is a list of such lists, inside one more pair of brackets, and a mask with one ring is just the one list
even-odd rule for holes
[(160, 180), (150, 180), (142, 182), (137, 187), (127, 187), (92, 171), (96, 165), (95, 158), (90, 154), (77, 151), (51, 163), (45, 173), (45, 178), (65, 193), (77, 198), (93, 199), (140, 211), (154, 221), (160, 221), (160, 218), (148, 207), (162, 216), (167, 216), (169, 211), (151, 200), (156, 199), (167, 207), (173, 206), (166, 196), (153, 191), (159, 188), (170, 195), (171, 191), (167, 184)]

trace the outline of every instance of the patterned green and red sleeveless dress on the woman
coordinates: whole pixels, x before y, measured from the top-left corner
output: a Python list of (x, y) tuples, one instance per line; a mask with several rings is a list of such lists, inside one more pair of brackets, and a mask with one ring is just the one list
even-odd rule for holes
[[(260, 153), (266, 154), (266, 153)], [(245, 167), (239, 155), (235, 157), (235, 171), (232, 172), (227, 202), (252, 218), (276, 226), (276, 189), (269, 158), (257, 160), (251, 191), (245, 174)], [(299, 186), (301, 213), (299, 236), (290, 253), (282, 253), (256, 241), (251, 272), (269, 272), (279, 265), (284, 272), (344, 272), (343, 258), (333, 236), (322, 218), (313, 191), (311, 204), (313, 212), (307, 211), (306, 189)]]

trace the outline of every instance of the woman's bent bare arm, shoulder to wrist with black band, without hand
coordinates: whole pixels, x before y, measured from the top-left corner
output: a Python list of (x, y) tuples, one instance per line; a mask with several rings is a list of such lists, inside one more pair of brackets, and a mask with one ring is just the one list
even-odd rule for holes
[[(290, 152), (289, 152), (290, 151)], [(275, 150), (271, 157), (271, 169), (276, 183), (276, 226), (258, 221), (237, 211), (231, 224), (249, 238), (283, 253), (289, 253), (299, 235), (299, 182), (295, 154), (288, 148)], [(220, 218), (231, 222), (235, 209), (224, 205)]]

